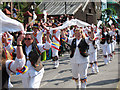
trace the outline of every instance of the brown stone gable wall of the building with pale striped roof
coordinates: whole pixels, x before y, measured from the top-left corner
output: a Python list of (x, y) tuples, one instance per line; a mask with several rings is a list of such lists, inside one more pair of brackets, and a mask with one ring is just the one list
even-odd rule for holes
[(97, 24), (98, 20), (101, 20), (101, 2), (89, 2), (83, 11), (84, 7), (81, 7), (74, 17), (89, 24)]

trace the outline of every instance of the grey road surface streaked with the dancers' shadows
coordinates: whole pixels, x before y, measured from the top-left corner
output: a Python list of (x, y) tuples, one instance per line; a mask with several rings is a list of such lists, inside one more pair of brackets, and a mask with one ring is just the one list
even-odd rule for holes
[[(98, 52), (99, 73), (92, 74), (88, 68), (87, 88), (117, 88), (120, 89), (120, 45), (116, 46), (116, 54), (113, 60), (105, 65), (102, 52)], [(72, 80), (71, 65), (69, 54), (59, 58), (60, 65), (53, 69), (52, 60), (44, 61), (45, 73), (40, 88), (75, 88), (75, 82)], [(23, 88), (20, 76), (12, 75), (11, 83), (13, 88)]]

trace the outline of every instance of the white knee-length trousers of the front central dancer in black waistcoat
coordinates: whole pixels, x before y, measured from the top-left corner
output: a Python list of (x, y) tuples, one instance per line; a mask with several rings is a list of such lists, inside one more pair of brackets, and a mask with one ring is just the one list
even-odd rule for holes
[(71, 63), (71, 66), (72, 66), (72, 75), (74, 78), (84, 79), (87, 77), (88, 62), (82, 64)]

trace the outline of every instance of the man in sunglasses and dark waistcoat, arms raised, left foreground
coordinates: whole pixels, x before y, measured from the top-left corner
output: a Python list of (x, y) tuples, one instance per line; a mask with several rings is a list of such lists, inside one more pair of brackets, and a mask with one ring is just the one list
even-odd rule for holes
[[(39, 88), (40, 86), (44, 74), (44, 67), (41, 63), (40, 56), (42, 52), (49, 50), (51, 47), (49, 32), (46, 36), (47, 42), (45, 44), (37, 44), (34, 36), (27, 33), (24, 38), (24, 44), (22, 45), (22, 43), (19, 43), (18, 45), (19, 47), (23, 46), (23, 52), (27, 60), (26, 66), (28, 67), (28, 71), (21, 75), (24, 88)], [(9, 52), (13, 52), (10, 44), (6, 46), (6, 49)]]

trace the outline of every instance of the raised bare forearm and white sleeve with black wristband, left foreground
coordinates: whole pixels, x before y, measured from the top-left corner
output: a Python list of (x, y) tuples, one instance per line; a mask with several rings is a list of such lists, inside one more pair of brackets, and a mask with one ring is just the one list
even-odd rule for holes
[(26, 59), (25, 59), (25, 55), (23, 54), (23, 50), (22, 50), (22, 40), (25, 36), (24, 35), (20, 35), (17, 39), (17, 57), (15, 58), (15, 60), (7, 60), (6, 64), (10, 66), (8, 67), (8, 70), (11, 72), (16, 72), (18, 70), (23, 69)]

